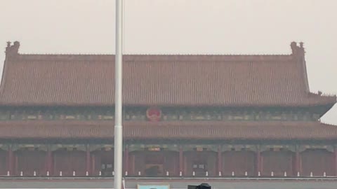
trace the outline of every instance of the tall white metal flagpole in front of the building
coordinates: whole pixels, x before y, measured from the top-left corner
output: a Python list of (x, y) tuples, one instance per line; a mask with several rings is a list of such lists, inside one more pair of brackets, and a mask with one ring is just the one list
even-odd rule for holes
[(116, 55), (114, 100), (114, 189), (121, 189), (123, 165), (122, 127), (122, 62), (123, 62), (123, 1), (116, 1)]

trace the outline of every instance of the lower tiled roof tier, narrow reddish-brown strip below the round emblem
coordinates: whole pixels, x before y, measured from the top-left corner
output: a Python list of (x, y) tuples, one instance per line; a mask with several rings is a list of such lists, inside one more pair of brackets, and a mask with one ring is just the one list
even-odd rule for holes
[[(113, 121), (0, 122), (1, 139), (112, 139)], [(337, 139), (337, 126), (319, 122), (124, 122), (124, 139)]]

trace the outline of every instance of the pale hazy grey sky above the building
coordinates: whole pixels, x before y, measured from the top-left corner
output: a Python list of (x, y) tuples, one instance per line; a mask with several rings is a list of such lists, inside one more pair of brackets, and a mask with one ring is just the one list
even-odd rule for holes
[[(310, 90), (337, 93), (336, 0), (125, 0), (129, 54), (289, 54), (303, 41)], [(0, 0), (0, 45), (114, 53), (113, 0)], [(1, 69), (4, 53), (0, 53)], [(337, 105), (322, 119), (337, 125)]]

